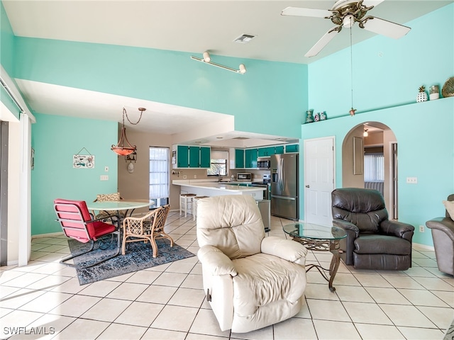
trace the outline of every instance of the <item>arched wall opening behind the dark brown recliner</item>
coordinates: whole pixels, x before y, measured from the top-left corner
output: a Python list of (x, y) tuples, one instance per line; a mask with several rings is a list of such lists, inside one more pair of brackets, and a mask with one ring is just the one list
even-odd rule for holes
[[(371, 155), (377, 155), (373, 162), (382, 164), (382, 174), (377, 174), (377, 169), (371, 171), (367, 160), (365, 164), (365, 155), (369, 161), (375, 157)], [(342, 144), (342, 183), (344, 188), (375, 188), (382, 192), (389, 219), (397, 220), (397, 138), (387, 125), (364, 122), (345, 135)]]

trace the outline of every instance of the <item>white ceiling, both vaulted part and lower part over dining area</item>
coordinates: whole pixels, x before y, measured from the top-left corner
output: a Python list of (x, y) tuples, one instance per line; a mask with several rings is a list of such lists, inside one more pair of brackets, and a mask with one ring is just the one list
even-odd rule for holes
[[(350, 43), (349, 35), (340, 33), (318, 56), (306, 58), (304, 54), (334, 26), (333, 23), (328, 19), (280, 15), (287, 6), (328, 9), (335, 1), (1, 1), (13, 33), (31, 38), (151, 47), (191, 52), (200, 57), (208, 50), (212, 55), (302, 64), (326, 57)], [(405, 24), (452, 2), (385, 0), (368, 14)], [(233, 42), (243, 33), (256, 35), (256, 38), (248, 44)], [(354, 27), (354, 42), (374, 35)], [(161, 113), (159, 123), (148, 119), (144, 113), (143, 121), (137, 125), (150, 132), (174, 134), (190, 129), (186, 119), (189, 116), (199, 118), (192, 121), (194, 126), (207, 118), (211, 121), (226, 118), (220, 113), (55, 84), (18, 79), (18, 86), (36, 112), (78, 116), (90, 112), (90, 118), (112, 119), (111, 113), (118, 111), (118, 120), (121, 120), (123, 106), (129, 106), (131, 110), (145, 107), (148, 112)]]

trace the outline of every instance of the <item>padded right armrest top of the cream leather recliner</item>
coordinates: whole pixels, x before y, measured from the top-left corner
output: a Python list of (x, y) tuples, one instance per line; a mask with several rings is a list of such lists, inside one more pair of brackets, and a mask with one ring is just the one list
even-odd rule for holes
[(301, 266), (306, 264), (306, 247), (291, 239), (275, 236), (265, 237), (262, 239), (261, 251), (263, 254), (277, 256)]

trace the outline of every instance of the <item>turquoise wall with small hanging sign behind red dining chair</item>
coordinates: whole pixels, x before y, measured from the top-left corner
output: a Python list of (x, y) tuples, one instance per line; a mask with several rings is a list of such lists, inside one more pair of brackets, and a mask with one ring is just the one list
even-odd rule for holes
[[(55, 222), (53, 200), (66, 198), (92, 202), (98, 193), (117, 191), (118, 160), (110, 147), (118, 141), (118, 124), (59, 115), (35, 114), (32, 147), (35, 167), (31, 171), (32, 235), (61, 232)], [(74, 169), (73, 154), (87, 149), (95, 157), (93, 169)], [(80, 152), (87, 154), (85, 150)], [(109, 166), (109, 172), (104, 172)], [(100, 181), (101, 175), (109, 181)]]

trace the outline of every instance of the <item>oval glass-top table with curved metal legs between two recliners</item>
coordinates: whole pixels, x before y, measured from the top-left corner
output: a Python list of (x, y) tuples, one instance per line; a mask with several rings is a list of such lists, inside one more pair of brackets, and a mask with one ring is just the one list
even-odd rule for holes
[[(333, 280), (341, 263), (341, 255), (339, 254), (339, 240), (347, 237), (347, 232), (339, 227), (326, 227), (324, 225), (314, 225), (314, 223), (297, 222), (289, 225), (284, 225), (284, 232), (293, 237), (294, 241), (306, 246), (309, 250), (331, 251), (333, 259), (329, 269), (325, 269), (317, 264), (309, 264), (306, 266), (306, 272), (312, 268), (316, 268), (319, 273), (328, 281), (328, 288), (334, 292)], [(329, 271), (329, 278), (326, 275)]]

